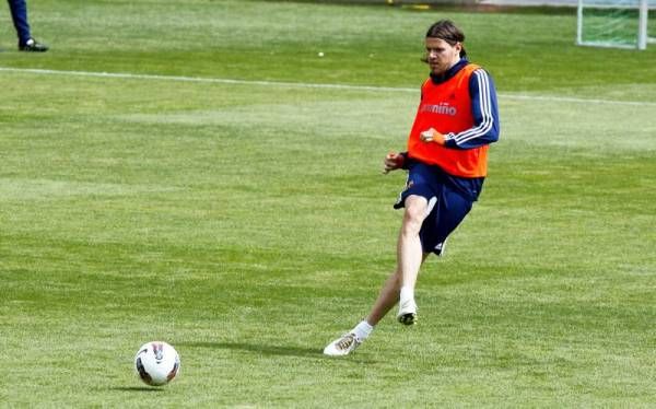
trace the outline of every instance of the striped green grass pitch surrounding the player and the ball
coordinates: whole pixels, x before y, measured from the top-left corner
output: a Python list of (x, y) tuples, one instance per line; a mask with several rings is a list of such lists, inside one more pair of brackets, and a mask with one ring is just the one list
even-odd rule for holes
[[(30, 12), (44, 55), (0, 15), (0, 406), (656, 406), (656, 47), (576, 47), (562, 10)], [(442, 17), (497, 84), (490, 177), (420, 325), (326, 359), (394, 268), (382, 159)], [(181, 357), (163, 388), (132, 369), (156, 339)]]

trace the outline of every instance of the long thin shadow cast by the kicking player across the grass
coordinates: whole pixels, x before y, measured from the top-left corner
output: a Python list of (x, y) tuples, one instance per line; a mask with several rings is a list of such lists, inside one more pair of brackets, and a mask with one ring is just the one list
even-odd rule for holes
[(303, 348), (303, 347), (281, 347), (281, 346), (265, 346), (259, 343), (245, 342), (177, 342), (176, 346), (191, 348), (212, 348), (212, 349), (229, 349), (235, 351), (253, 352), (262, 355), (279, 355), (279, 357), (300, 357), (314, 358), (321, 360), (330, 360), (333, 362), (351, 362), (351, 363), (373, 363), (371, 360), (362, 360), (360, 358), (348, 357), (342, 359), (328, 358), (324, 355), (321, 349)]

